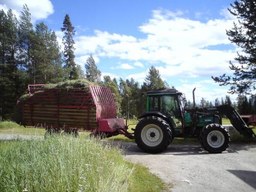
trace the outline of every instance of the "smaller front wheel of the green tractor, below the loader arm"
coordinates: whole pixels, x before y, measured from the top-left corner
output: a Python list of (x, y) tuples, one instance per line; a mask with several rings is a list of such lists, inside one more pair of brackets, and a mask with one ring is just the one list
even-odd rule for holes
[(209, 124), (201, 130), (199, 142), (209, 153), (221, 153), (229, 147), (230, 134), (219, 124)]

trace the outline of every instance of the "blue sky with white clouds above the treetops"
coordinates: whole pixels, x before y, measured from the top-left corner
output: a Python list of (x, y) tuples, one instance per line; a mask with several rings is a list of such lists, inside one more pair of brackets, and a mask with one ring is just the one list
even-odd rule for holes
[(83, 69), (92, 54), (102, 75), (112, 78), (142, 84), (153, 65), (191, 101), (194, 87), (197, 102), (229, 95), (211, 76), (232, 74), (229, 61), (241, 51), (226, 35), (235, 21), (227, 10), (232, 0), (0, 0), (0, 9), (18, 17), (25, 3), (32, 23), (54, 30), (62, 49), (61, 27), (70, 15), (75, 61)]

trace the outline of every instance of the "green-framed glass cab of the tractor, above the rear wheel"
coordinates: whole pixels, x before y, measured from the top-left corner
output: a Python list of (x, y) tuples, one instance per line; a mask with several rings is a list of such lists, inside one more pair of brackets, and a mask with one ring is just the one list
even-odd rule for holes
[(148, 91), (146, 93), (146, 113), (165, 117), (171, 123), (175, 135), (182, 134), (184, 128), (183, 94), (176, 89)]

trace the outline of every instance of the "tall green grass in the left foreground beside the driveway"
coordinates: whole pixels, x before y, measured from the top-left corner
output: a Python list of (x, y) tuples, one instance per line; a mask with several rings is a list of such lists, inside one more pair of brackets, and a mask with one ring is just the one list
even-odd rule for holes
[(126, 192), (133, 167), (96, 139), (0, 143), (0, 192)]

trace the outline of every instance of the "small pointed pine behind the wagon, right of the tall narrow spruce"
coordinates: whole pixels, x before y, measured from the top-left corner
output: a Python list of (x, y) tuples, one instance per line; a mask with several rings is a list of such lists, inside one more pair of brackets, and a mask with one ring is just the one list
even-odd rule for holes
[(100, 82), (101, 72), (98, 70), (92, 55), (87, 58), (85, 63), (85, 78), (90, 82)]

